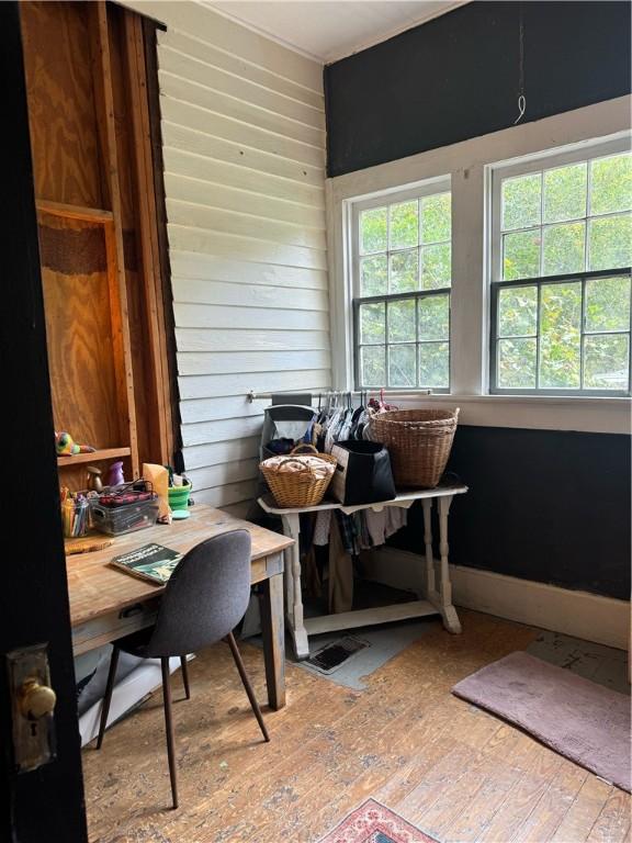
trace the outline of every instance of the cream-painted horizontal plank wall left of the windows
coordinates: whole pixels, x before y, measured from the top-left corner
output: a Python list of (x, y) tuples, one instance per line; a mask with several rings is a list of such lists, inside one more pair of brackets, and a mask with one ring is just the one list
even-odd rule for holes
[(256, 492), (266, 402), (331, 382), (323, 68), (202, 2), (162, 22), (161, 128), (184, 464), (194, 497)]

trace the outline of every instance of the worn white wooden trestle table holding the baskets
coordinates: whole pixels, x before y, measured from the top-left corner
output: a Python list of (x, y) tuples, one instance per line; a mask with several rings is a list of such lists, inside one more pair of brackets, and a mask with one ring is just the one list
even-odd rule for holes
[[(467, 492), (467, 486), (438, 486), (437, 488), (424, 488), (403, 492), (392, 501), (383, 501), (376, 504), (362, 504), (359, 506), (342, 506), (335, 502), (327, 502), (318, 506), (281, 509), (275, 506), (270, 495), (260, 497), (258, 503), (270, 515), (281, 517), (283, 532), (294, 539), (294, 544), (285, 552), (285, 615), (294, 643), (294, 652), (297, 659), (307, 659), (309, 655), (308, 636), (319, 632), (330, 632), (338, 629), (352, 629), (372, 623), (386, 623), (392, 620), (417, 618), (425, 615), (440, 615), (443, 626), (449, 632), (461, 632), (461, 622), (456, 609), (452, 605), (452, 584), (450, 582), (450, 567), (448, 563), (448, 515), (454, 495)], [(439, 550), (440, 559), (432, 554), (431, 512), (432, 502), (437, 501), (439, 509)], [(381, 512), (385, 506), (398, 506), (408, 509), (415, 501), (421, 501), (424, 507), (424, 542), (426, 558), (425, 599), (398, 603), (393, 606), (380, 606), (371, 609), (356, 609), (338, 615), (324, 615), (317, 618), (304, 618), (303, 595), (301, 592), (301, 551), (298, 538), (301, 535), (301, 513), (317, 513), (320, 509), (340, 509), (346, 515), (359, 509), (373, 509)], [(421, 558), (422, 558), (421, 557)]]

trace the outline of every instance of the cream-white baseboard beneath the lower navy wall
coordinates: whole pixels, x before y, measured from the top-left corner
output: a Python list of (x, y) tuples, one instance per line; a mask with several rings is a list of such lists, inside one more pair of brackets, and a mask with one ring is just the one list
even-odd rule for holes
[[(368, 553), (366, 574), (398, 588), (418, 589), (421, 558), (395, 548)], [(421, 563), (421, 564), (420, 564)], [(515, 576), (450, 565), (455, 606), (564, 632), (607, 647), (630, 647), (630, 603)]]

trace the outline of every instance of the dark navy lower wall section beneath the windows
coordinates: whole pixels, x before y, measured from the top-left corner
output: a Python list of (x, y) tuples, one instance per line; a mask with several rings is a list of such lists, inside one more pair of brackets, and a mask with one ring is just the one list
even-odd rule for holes
[[(630, 599), (628, 436), (460, 426), (448, 468), (470, 486), (451, 562)], [(391, 543), (418, 551), (421, 513), (409, 522)]]

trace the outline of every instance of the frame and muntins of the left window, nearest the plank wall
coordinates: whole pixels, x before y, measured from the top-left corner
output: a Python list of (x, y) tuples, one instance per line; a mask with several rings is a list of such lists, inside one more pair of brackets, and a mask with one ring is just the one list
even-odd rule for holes
[[(405, 188), (398, 188), (396, 190), (383, 190), (376, 193), (371, 194), (366, 198), (359, 198), (357, 200), (353, 200), (350, 203), (350, 213), (347, 217), (347, 225), (348, 225), (348, 243), (350, 247), (350, 260), (349, 260), (349, 268), (350, 268), (350, 283), (349, 283), (349, 293), (350, 293), (350, 303), (351, 303), (351, 363), (352, 363), (352, 378), (353, 378), (353, 389), (354, 390), (376, 390), (381, 389), (380, 386), (364, 386), (361, 382), (361, 369), (360, 369), (360, 349), (363, 347), (360, 342), (360, 307), (363, 304), (381, 304), (385, 303), (385, 338), (384, 338), (384, 349), (385, 349), (385, 373), (386, 373), (386, 380), (388, 379), (388, 348), (392, 345), (415, 345), (416, 348), (416, 367), (418, 371), (418, 349), (420, 345), (424, 345), (424, 342), (448, 342), (448, 385), (447, 386), (424, 386), (424, 385), (414, 385), (414, 386), (387, 386), (385, 383), (381, 386), (384, 389), (385, 392), (397, 392), (397, 393), (410, 393), (415, 394), (416, 392), (424, 392), (426, 390), (430, 390), (432, 394), (438, 395), (449, 395), (451, 393), (451, 383), (452, 383), (452, 318), (451, 318), (451, 312), (452, 312), (452, 293), (453, 293), (453, 286), (452, 286), (452, 277), (454, 274), (453, 271), (453, 212), (451, 210), (451, 225), (450, 225), (450, 261), (451, 261), (451, 272), (450, 272), (450, 286), (443, 286), (438, 288), (436, 290), (414, 290), (410, 292), (404, 292), (404, 293), (384, 293), (383, 295), (371, 295), (371, 296), (362, 296), (361, 290), (360, 290), (360, 260), (363, 257), (368, 257), (365, 255), (360, 255), (360, 214), (364, 211), (370, 211), (375, 207), (388, 207), (390, 205), (399, 204), (400, 202), (407, 202), (410, 200), (421, 200), (427, 196), (435, 196), (440, 195), (442, 193), (450, 193), (450, 200), (451, 200), (451, 209), (452, 209), (452, 183), (451, 183), (451, 177), (450, 176), (440, 176), (437, 178), (431, 179), (425, 179), (421, 182), (418, 182), (416, 184), (409, 184)], [(388, 215), (387, 215), (387, 229), (388, 232)], [(447, 240), (443, 240), (442, 243), (447, 243)], [(388, 240), (387, 240), (388, 245)], [(429, 244), (431, 245), (431, 244)], [(422, 244), (419, 241), (417, 247), (408, 247), (408, 249), (393, 249), (390, 248), (386, 249), (386, 252), (375, 252), (375, 255), (383, 255), (386, 254), (387, 256), (387, 262), (388, 257), (393, 252), (396, 251), (407, 251), (411, 250), (413, 248), (420, 249), (422, 248)], [(388, 302), (396, 302), (402, 300), (414, 300), (415, 301), (415, 308), (416, 313), (418, 314), (418, 302), (422, 299), (431, 297), (431, 296), (438, 296), (438, 295), (447, 295), (448, 296), (448, 338), (442, 340), (419, 340), (418, 333), (415, 337), (415, 340), (410, 341), (409, 344), (403, 342), (388, 342)], [(416, 315), (416, 325), (418, 329), (418, 315)], [(364, 344), (364, 345), (372, 345), (372, 344)], [(380, 344), (375, 344), (380, 345)]]

